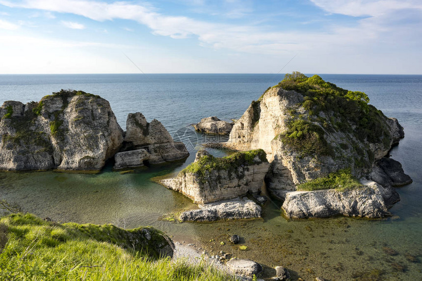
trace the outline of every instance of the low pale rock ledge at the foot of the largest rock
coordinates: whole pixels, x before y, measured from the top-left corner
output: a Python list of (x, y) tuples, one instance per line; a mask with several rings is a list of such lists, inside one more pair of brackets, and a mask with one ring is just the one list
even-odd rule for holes
[(388, 190), (375, 182), (364, 182), (351, 190), (325, 189), (317, 191), (291, 191), (286, 194), (283, 210), (287, 217), (328, 217), (338, 214), (379, 218), (391, 213), (384, 197)]

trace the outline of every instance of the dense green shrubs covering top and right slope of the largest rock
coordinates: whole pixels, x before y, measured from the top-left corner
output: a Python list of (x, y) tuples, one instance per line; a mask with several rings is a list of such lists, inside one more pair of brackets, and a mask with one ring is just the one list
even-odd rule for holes
[[(331, 132), (343, 131), (353, 134), (361, 142), (383, 143), (385, 148), (390, 145), (391, 135), (386, 123), (387, 117), (380, 110), (368, 104), (367, 94), (347, 91), (324, 81), (318, 75), (307, 77), (297, 71), (286, 74), (283, 81), (274, 87), (281, 87), (287, 91), (293, 90), (303, 95), (301, 105), (309, 114), (307, 117), (309, 122), (304, 121), (298, 124), (294, 119), (303, 119), (304, 117), (296, 114), (292, 108), (290, 115), (293, 121), (289, 124), (289, 130), (282, 134), (283, 141), (303, 154), (324, 155), (330, 150), (330, 147), (324, 147), (326, 142), (323, 140), (322, 128)], [(321, 115), (321, 113), (323, 114)], [(311, 123), (314, 123), (315, 126), (312, 126)], [(301, 134), (305, 131), (298, 130), (298, 125), (306, 127), (305, 131), (308, 133)], [(301, 145), (301, 140), (305, 140), (308, 145)], [(309, 145), (310, 141), (312, 145)]]

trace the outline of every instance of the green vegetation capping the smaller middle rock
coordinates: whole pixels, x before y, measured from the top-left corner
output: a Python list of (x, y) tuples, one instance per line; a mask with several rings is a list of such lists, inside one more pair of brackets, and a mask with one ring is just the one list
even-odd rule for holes
[[(255, 160), (258, 157), (258, 160)], [(198, 175), (201, 179), (206, 179), (207, 173), (213, 170), (228, 170), (237, 173), (237, 168), (241, 165), (259, 164), (268, 162), (266, 153), (262, 149), (242, 151), (234, 153), (230, 156), (218, 158), (212, 155), (202, 156), (197, 162), (189, 164), (185, 169), (180, 171), (180, 174), (193, 173)]]

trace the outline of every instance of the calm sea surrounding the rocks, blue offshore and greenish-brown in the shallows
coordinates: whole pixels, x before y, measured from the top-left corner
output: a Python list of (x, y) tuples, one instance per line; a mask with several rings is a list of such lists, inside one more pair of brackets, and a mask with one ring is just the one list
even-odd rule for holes
[[(422, 280), (422, 75), (319, 75), (344, 89), (365, 92), (370, 104), (404, 127), (405, 137), (390, 155), (413, 183), (396, 188), (401, 200), (391, 208), (392, 216), (287, 219), (282, 202), (271, 199), (262, 219), (213, 223), (165, 219), (196, 207), (155, 180), (177, 174), (193, 162), (195, 152), (210, 138), (226, 140), (196, 133), (191, 125), (209, 116), (239, 118), (284, 74), (0, 75), (0, 102), (39, 101), (60, 89), (98, 94), (110, 102), (124, 130), (127, 115), (141, 112), (148, 121), (158, 119), (190, 152), (185, 161), (126, 174), (113, 171), (112, 164), (98, 174), (0, 172), (0, 198), (59, 222), (112, 223), (127, 229), (153, 226), (212, 255), (223, 251), (260, 262), (264, 277), (274, 276), (273, 267), (282, 265), (293, 280)], [(240, 235), (247, 250), (228, 243), (232, 234)], [(396, 254), (389, 255), (389, 248)]]

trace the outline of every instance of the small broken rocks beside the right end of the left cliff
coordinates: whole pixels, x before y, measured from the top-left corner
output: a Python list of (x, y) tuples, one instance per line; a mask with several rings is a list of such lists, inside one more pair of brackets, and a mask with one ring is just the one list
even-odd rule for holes
[(116, 153), (115, 169), (177, 161), (189, 156), (183, 142), (175, 142), (164, 126), (150, 123), (141, 113), (131, 113), (126, 121), (126, 135), (121, 152)]

